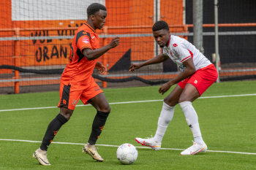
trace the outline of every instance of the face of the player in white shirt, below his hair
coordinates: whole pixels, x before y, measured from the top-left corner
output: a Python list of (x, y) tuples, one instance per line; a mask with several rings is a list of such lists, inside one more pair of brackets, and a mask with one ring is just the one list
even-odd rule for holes
[(166, 29), (161, 29), (159, 31), (153, 31), (154, 40), (156, 40), (157, 44), (160, 47), (165, 47), (165, 45), (168, 45), (168, 42), (170, 40), (170, 31), (167, 31)]

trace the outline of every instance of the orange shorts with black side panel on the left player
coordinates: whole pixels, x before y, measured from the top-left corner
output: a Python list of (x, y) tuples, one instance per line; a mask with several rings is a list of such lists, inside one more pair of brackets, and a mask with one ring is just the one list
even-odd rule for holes
[(102, 93), (102, 89), (99, 88), (94, 80), (88, 85), (64, 85), (61, 83), (59, 88), (60, 101), (58, 107), (64, 107), (67, 109), (75, 109), (78, 104), (79, 98), (83, 101), (83, 104), (89, 104), (89, 99)]

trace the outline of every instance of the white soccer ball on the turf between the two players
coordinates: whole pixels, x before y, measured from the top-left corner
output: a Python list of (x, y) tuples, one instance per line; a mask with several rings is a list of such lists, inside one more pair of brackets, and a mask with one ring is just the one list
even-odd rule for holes
[(130, 165), (136, 161), (138, 150), (132, 144), (122, 144), (116, 150), (116, 158), (124, 165)]

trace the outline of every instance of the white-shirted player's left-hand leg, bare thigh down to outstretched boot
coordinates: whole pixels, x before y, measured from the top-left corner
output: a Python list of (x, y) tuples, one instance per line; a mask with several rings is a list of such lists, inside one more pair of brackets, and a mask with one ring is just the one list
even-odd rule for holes
[(170, 121), (173, 119), (174, 107), (178, 104), (178, 98), (181, 96), (183, 89), (177, 85), (176, 88), (165, 98), (162, 111), (157, 123), (157, 132), (155, 136), (151, 136), (148, 139), (135, 138), (135, 140), (147, 147), (151, 147), (152, 150), (160, 150), (162, 138), (165, 135), (165, 131)]

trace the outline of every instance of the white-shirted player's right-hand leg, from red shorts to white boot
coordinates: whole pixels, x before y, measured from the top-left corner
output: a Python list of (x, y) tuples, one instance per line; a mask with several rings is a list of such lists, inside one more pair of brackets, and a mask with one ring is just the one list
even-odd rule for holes
[(217, 70), (214, 66), (211, 66), (208, 69), (197, 70), (197, 72), (190, 77), (181, 93), (178, 103), (184, 112), (187, 124), (195, 139), (192, 147), (181, 152), (181, 155), (195, 155), (198, 152), (206, 152), (207, 150), (206, 143), (203, 142), (200, 132), (197, 113), (195, 112), (194, 107), (192, 107), (192, 102), (200, 97), (217, 80), (217, 77)]

